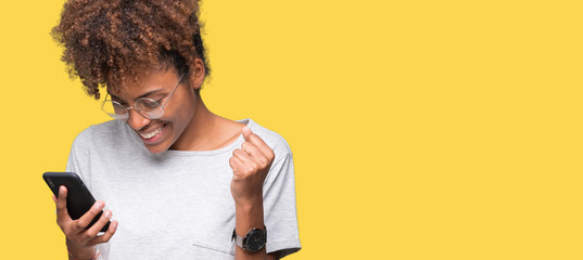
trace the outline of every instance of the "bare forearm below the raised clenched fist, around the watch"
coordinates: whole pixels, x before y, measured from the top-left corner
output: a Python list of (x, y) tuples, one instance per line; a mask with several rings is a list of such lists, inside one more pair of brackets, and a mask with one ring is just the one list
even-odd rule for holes
[[(253, 227), (265, 229), (263, 219), (263, 197), (254, 199), (249, 203), (236, 203), (236, 220), (235, 230), (238, 235), (245, 236), (246, 232)], [(261, 250), (252, 252), (236, 246), (235, 259), (237, 260), (251, 260), (251, 259), (267, 259), (266, 250), (263, 247)]]

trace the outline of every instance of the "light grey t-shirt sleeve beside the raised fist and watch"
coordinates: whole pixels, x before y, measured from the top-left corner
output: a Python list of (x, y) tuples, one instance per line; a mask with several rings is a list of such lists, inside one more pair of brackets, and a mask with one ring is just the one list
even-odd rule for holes
[[(267, 253), (281, 251), (280, 257), (299, 251), (300, 236), (295, 208), (293, 156), (287, 145), (276, 151), (276, 159), (264, 182), (264, 212), (267, 227)], [(280, 156), (277, 156), (279, 152)]]

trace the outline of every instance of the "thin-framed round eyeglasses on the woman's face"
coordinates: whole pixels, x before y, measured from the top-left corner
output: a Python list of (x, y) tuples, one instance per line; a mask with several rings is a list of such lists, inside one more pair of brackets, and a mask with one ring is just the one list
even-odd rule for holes
[(180, 81), (182, 81), (183, 77), (185, 75), (182, 74), (178, 80), (178, 83), (176, 83), (163, 105), (159, 103), (160, 101), (155, 101), (150, 98), (141, 98), (136, 101), (134, 106), (126, 107), (125, 105), (119, 104), (117, 101), (107, 100), (107, 96), (105, 96), (105, 100), (103, 103), (101, 103), (101, 109), (109, 116), (119, 120), (127, 120), (129, 118), (129, 109), (136, 109), (137, 113), (148, 119), (161, 118), (164, 116), (164, 107), (170, 100), (170, 96), (174, 94), (174, 91), (178, 84), (180, 84)]

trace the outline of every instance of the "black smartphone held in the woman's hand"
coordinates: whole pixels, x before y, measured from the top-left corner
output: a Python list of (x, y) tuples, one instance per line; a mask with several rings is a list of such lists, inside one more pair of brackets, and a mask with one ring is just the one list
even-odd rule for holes
[[(55, 197), (59, 197), (59, 187), (61, 185), (67, 187), (67, 211), (73, 220), (84, 216), (96, 203), (91, 192), (87, 190), (81, 179), (74, 172), (45, 172), (42, 179), (45, 179)], [(102, 213), (103, 210), (85, 229), (91, 227)], [(101, 232), (107, 231), (110, 223), (111, 221), (101, 229)]]

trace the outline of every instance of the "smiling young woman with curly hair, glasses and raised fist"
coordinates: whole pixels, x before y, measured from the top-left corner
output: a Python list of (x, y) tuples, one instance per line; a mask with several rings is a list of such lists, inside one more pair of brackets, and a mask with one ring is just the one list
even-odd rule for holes
[(198, 11), (194, 0), (65, 3), (52, 31), (63, 61), (96, 99), (105, 87), (102, 109), (116, 119), (73, 143), (67, 171), (102, 200), (72, 220), (61, 186), (69, 259), (278, 259), (301, 248), (286, 140), (204, 105)]

